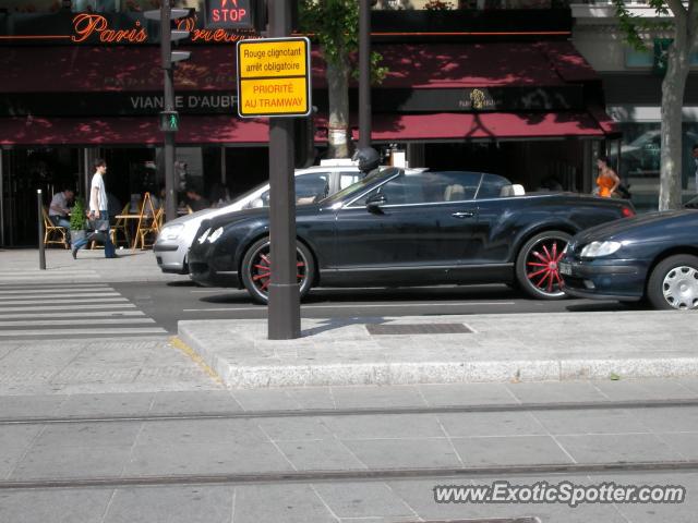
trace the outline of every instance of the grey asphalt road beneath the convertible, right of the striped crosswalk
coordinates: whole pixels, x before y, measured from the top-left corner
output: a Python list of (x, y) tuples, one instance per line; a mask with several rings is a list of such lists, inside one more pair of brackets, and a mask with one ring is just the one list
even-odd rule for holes
[[(266, 307), (252, 303), (245, 291), (200, 288), (190, 282), (115, 283), (127, 297), (158, 326), (177, 332), (183, 319), (265, 318)], [(418, 289), (316, 289), (301, 305), (306, 318), (352, 316), (414, 316), (449, 314), (520, 314), (625, 311), (612, 301), (530, 300), (502, 284), (432, 287)]]

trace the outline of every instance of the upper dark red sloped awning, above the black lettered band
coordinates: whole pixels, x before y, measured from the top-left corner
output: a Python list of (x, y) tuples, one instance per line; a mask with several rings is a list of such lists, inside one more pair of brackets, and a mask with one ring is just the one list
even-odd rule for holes
[[(183, 90), (236, 88), (234, 46), (189, 48), (177, 65)], [(376, 45), (388, 68), (374, 88), (445, 88), (542, 85), (599, 80), (567, 41)], [(3, 47), (0, 93), (159, 92), (163, 70), (153, 46)], [(325, 66), (313, 51), (314, 88), (325, 88)]]

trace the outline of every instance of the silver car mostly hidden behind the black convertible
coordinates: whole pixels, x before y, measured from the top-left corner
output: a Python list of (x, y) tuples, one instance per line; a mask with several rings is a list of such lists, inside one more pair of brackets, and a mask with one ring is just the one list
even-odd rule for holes
[[(296, 203), (312, 203), (356, 183), (359, 169), (348, 160), (335, 160), (296, 171)], [(186, 253), (194, 241), (201, 222), (206, 218), (236, 210), (269, 205), (269, 184), (265, 183), (243, 194), (231, 204), (217, 209), (204, 209), (168, 221), (157, 236), (153, 251), (163, 272), (189, 273)]]

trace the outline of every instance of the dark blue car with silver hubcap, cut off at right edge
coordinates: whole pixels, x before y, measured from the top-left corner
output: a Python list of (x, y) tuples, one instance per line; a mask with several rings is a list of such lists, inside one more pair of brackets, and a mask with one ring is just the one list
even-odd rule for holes
[(698, 210), (653, 212), (574, 236), (559, 264), (577, 297), (698, 309)]

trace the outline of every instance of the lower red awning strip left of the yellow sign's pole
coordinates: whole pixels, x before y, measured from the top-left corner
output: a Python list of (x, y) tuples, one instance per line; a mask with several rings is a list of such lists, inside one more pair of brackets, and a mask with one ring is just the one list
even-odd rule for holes
[[(178, 144), (260, 144), (269, 139), (264, 120), (184, 115)], [(2, 118), (0, 145), (157, 145), (156, 118)]]

